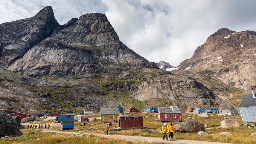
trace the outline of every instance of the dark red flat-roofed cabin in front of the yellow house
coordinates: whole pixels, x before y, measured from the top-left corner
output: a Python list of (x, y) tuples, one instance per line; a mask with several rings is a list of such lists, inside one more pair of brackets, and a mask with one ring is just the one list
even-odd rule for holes
[(142, 129), (143, 116), (120, 116), (118, 117), (118, 126), (121, 130)]

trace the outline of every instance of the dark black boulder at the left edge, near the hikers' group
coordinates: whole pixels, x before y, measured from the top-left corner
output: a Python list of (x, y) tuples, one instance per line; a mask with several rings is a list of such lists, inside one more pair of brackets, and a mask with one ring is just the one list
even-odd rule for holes
[(23, 135), (17, 128), (16, 121), (7, 114), (0, 112), (0, 137), (16, 137)]

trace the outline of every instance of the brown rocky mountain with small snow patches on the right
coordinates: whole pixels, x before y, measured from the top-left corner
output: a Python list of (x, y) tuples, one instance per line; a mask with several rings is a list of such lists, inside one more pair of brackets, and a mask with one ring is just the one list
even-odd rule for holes
[(211, 76), (244, 90), (256, 86), (256, 32), (221, 28), (199, 46), (176, 71), (212, 71)]

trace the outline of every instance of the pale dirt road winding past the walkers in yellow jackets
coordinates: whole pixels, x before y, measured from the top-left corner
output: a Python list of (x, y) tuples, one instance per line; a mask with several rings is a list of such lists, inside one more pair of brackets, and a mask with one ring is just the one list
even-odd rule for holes
[[(65, 131), (60, 132), (60, 131), (54, 131), (54, 130), (47, 131), (45, 129), (42, 129), (42, 130), (44, 132), (90, 135), (90, 133), (82, 133), (82, 132), (65, 132)], [(171, 144), (226, 144), (226, 143), (197, 141), (197, 140), (182, 140), (182, 139), (174, 139), (174, 140), (166, 141), (166, 140), (162, 140), (162, 138), (160, 138), (160, 137), (158, 138), (158, 137), (125, 136), (125, 135), (116, 135), (116, 134), (112, 134), (109, 136), (106, 136), (105, 134), (92, 134), (92, 135), (99, 136), (99, 137), (105, 137), (105, 138), (111, 138), (111, 139), (126, 140), (126, 141), (130, 141), (133, 143), (146, 142), (146, 143), (171, 143)]]

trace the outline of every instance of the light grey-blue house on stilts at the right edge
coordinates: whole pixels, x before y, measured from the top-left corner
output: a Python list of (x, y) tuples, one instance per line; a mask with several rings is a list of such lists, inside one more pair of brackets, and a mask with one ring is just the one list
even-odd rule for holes
[(239, 105), (242, 120), (246, 123), (256, 122), (256, 93), (252, 90), (252, 93), (244, 94), (242, 101)]

